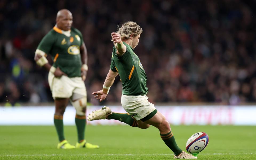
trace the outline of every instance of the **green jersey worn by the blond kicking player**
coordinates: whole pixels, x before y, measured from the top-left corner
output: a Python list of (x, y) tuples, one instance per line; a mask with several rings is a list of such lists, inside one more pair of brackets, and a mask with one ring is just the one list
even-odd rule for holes
[(124, 95), (146, 95), (147, 76), (139, 57), (134, 53), (133, 48), (123, 42), (127, 47), (125, 54), (117, 55), (117, 49), (113, 47), (110, 69), (118, 72), (122, 81), (122, 94)]

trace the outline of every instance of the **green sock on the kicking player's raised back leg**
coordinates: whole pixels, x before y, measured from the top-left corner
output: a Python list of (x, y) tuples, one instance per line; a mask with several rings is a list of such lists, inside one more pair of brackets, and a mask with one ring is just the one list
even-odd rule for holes
[(137, 122), (131, 117), (129, 113), (112, 113), (109, 116), (107, 116), (107, 119), (115, 119), (119, 120), (120, 122), (125, 122), (126, 124), (129, 124), (132, 127), (138, 127)]

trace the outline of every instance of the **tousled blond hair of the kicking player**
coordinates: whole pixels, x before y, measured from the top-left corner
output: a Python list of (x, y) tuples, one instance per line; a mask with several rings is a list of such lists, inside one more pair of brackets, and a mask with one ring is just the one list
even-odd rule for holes
[(119, 33), (121, 36), (121, 39), (130, 38), (131, 34), (133, 34), (132, 37), (136, 37), (139, 34), (142, 33), (142, 28), (133, 21), (125, 22), (121, 25), (121, 27), (118, 26), (118, 30), (116, 33)]

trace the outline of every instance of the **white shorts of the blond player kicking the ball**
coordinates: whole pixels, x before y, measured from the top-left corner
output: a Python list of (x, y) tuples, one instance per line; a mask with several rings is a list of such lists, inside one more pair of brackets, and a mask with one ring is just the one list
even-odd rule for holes
[(123, 109), (136, 120), (141, 120), (155, 110), (147, 96), (126, 96), (122, 94), (121, 103)]

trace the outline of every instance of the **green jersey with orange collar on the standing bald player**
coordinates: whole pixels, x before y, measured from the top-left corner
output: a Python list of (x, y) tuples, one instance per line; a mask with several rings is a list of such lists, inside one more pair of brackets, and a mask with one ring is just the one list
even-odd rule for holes
[(66, 36), (61, 29), (54, 27), (43, 37), (37, 49), (50, 54), (53, 66), (59, 67), (68, 77), (81, 77), (82, 43), (83, 37), (78, 29), (71, 28), (70, 36)]

